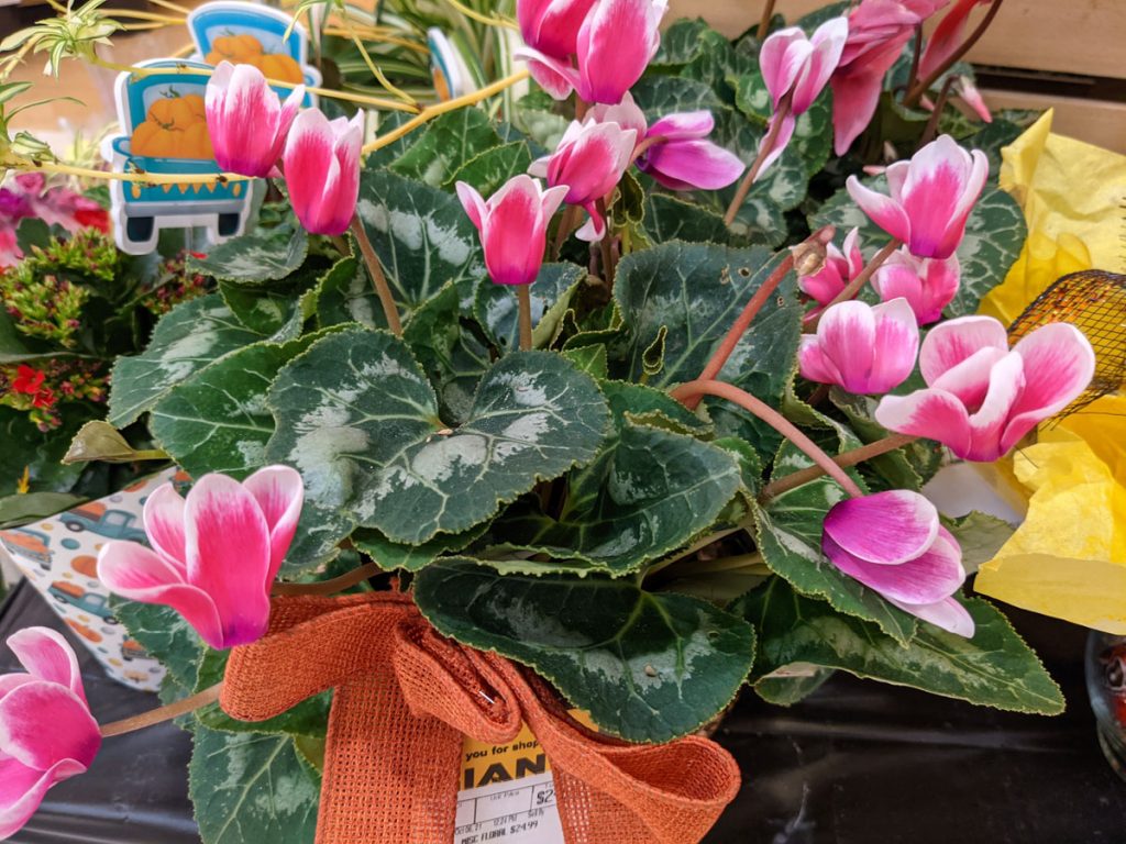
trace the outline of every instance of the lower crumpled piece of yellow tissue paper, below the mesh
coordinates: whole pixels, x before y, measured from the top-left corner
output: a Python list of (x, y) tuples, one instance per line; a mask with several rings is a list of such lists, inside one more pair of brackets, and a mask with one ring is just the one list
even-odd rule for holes
[(1126, 635), (1126, 486), (1064, 430), (1013, 457), (1031, 492), (1024, 524), (977, 572), (977, 592)]

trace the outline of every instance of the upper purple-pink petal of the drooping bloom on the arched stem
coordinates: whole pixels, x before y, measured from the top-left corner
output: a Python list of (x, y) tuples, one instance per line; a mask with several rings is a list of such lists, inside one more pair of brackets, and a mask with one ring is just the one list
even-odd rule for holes
[(939, 532), (938, 510), (909, 490), (846, 499), (825, 517), (825, 537), (874, 565), (894, 566), (931, 547)]

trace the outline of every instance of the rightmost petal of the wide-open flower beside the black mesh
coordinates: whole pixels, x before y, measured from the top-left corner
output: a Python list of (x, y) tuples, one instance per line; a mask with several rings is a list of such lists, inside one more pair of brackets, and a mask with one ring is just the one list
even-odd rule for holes
[(1054, 416), (1094, 377), (1094, 350), (1074, 325), (1051, 323), (1021, 339), (1013, 352), (1024, 360), (1025, 389), (1001, 437), (1008, 451), (1040, 421)]

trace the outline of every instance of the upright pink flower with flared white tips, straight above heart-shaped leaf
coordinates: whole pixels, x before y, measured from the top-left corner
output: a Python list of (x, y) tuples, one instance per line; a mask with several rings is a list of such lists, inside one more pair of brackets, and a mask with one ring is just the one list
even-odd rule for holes
[(489, 276), (498, 285), (530, 285), (547, 246), (547, 221), (566, 196), (565, 185), (544, 190), (530, 176), (515, 176), (486, 203), (464, 181), (457, 197), (481, 233)]

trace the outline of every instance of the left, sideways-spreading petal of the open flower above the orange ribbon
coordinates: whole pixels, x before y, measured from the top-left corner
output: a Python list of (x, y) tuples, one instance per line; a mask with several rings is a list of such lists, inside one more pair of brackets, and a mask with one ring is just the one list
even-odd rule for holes
[[(215, 602), (168, 560), (136, 542), (113, 540), (98, 554), (98, 580), (122, 598), (171, 607), (212, 647), (222, 647), (223, 625)], [(218, 643), (218, 644), (216, 644)]]

